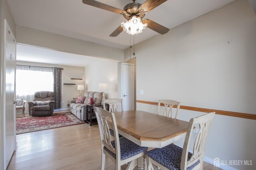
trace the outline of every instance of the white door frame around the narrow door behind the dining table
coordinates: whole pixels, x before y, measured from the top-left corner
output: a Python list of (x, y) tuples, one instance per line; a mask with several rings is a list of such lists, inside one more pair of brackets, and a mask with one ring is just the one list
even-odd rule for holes
[[(123, 82), (123, 65), (131, 65), (132, 66), (132, 76), (133, 76), (133, 80), (134, 80), (134, 64), (131, 63), (117, 63), (118, 64), (118, 98), (123, 99), (123, 89), (122, 89), (122, 82)], [(132, 84), (132, 86), (134, 86), (134, 83)], [(133, 88), (133, 90), (135, 91), (135, 87)], [(134, 100), (135, 100), (135, 96), (134, 96)], [(134, 101), (134, 109), (135, 109), (135, 101)]]

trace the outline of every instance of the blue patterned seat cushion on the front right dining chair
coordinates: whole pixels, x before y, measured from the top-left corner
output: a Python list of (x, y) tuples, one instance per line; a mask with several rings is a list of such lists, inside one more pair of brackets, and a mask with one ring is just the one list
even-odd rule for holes
[[(180, 170), (182, 148), (177, 145), (170, 144), (163, 148), (152, 149), (147, 152), (147, 155), (170, 170)], [(188, 160), (190, 160), (191, 156), (192, 153), (188, 152)], [(200, 160), (187, 167), (187, 170), (192, 170), (199, 162)]]

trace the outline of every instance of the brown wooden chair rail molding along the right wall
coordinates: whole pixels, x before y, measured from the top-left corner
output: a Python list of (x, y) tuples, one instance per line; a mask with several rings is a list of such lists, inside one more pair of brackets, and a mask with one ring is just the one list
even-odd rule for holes
[[(148, 102), (148, 101), (143, 101), (143, 100), (136, 100), (136, 102), (158, 106), (158, 102)], [(161, 104), (161, 106), (164, 106), (164, 104)], [(176, 107), (177, 106), (173, 106), (173, 108), (176, 108)], [(240, 117), (240, 118), (244, 118), (244, 119), (256, 120), (256, 115), (249, 114), (249, 113), (239, 113), (239, 112), (233, 112), (233, 111), (206, 109), (206, 108), (192, 107), (192, 106), (180, 106), (180, 109), (200, 111), (200, 112), (205, 112), (205, 113), (210, 113), (212, 111), (215, 111), (215, 114), (218, 114), (218, 115), (233, 116), (233, 117)]]

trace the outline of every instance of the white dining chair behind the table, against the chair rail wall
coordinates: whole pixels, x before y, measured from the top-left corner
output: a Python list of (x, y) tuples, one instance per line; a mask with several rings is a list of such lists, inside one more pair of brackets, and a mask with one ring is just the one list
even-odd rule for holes
[[(158, 100), (158, 109), (157, 109), (158, 115), (159, 115), (161, 103), (164, 104), (164, 113), (162, 115), (167, 116), (167, 117), (172, 117), (172, 107), (177, 105), (176, 113), (174, 116), (174, 118), (177, 119), (179, 109), (180, 109), (180, 102), (177, 102), (174, 100)], [(169, 109), (168, 109), (168, 107), (169, 107)]]

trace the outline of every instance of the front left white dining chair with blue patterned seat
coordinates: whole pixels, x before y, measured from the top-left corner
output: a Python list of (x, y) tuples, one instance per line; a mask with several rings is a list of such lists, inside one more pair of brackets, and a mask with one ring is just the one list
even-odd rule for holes
[[(137, 158), (144, 157), (144, 167), (146, 167), (146, 150), (147, 147), (140, 147), (136, 143), (125, 137), (116, 137), (118, 134), (116, 119), (114, 113), (94, 107), (98, 126), (100, 129), (101, 140), (101, 170), (104, 170), (105, 157), (116, 163), (116, 170), (121, 170), (121, 166), (128, 163), (126, 170), (132, 170), (137, 165)], [(114, 129), (114, 140), (111, 141), (107, 118), (110, 117)]]

